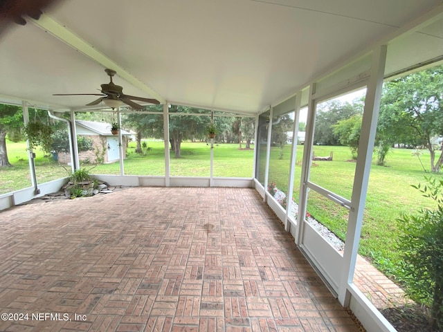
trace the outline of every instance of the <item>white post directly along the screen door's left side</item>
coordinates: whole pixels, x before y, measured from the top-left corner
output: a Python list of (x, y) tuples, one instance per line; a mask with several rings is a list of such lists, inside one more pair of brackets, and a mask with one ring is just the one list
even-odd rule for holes
[(296, 228), (296, 243), (300, 245), (303, 237), (303, 227), (306, 208), (307, 208), (307, 181), (309, 181), (309, 174), (311, 172), (311, 154), (312, 145), (314, 144), (314, 131), (316, 124), (316, 101), (313, 99), (313, 95), (316, 93), (316, 83), (311, 84), (309, 89), (309, 102), (307, 109), (307, 123), (305, 133), (305, 148), (303, 151), (302, 159), (302, 174), (300, 176), (300, 194), (298, 196), (298, 212), (297, 212), (297, 228)]

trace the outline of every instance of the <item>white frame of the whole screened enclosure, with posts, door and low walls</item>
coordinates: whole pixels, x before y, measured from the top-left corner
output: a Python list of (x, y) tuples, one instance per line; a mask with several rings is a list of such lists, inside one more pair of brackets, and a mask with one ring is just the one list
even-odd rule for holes
[[(411, 31), (417, 31), (419, 27), (433, 23), (437, 19), (443, 17), (443, 7), (426, 13), (423, 17), (415, 19), (407, 26), (399, 28), (395, 34), (383, 38), (371, 46), (370, 50), (363, 50), (351, 62), (336, 68), (330, 68), (321, 77), (314, 77), (309, 82), (305, 82), (302, 86), (298, 86), (295, 93), (291, 93), (287, 98), (282, 98), (279, 102), (269, 105), (264, 110), (256, 110), (255, 113), (255, 145), (253, 160), (253, 172), (251, 177), (247, 178), (216, 178), (213, 177), (213, 151), (211, 151), (210, 176), (192, 177), (192, 176), (171, 176), (170, 175), (170, 132), (169, 132), (169, 104), (180, 104), (179, 102), (163, 102), (163, 128), (164, 128), (164, 144), (165, 144), (165, 176), (128, 176), (124, 172), (123, 164), (123, 147), (122, 137), (119, 134), (120, 142), (120, 174), (98, 174), (98, 180), (106, 181), (110, 185), (127, 185), (127, 186), (190, 186), (190, 187), (217, 187), (217, 186), (233, 186), (233, 187), (254, 187), (262, 196), (264, 203), (277, 214), (282, 221), (283, 227), (291, 232), (298, 248), (303, 252), (305, 257), (310, 261), (311, 265), (316, 268), (319, 275), (323, 277), (327, 284), (338, 298), (342, 306), (348, 306), (352, 309), (356, 317), (359, 318), (367, 331), (395, 331), (386, 319), (379, 313), (377, 308), (363, 295), (363, 293), (354, 285), (354, 271), (356, 266), (356, 257), (358, 255), (359, 239), (361, 235), (361, 225), (363, 221), (363, 210), (365, 207), (366, 192), (368, 190), (368, 178), (370, 172), (370, 163), (372, 159), (372, 150), (374, 148), (374, 137), (377, 128), (377, 117), (380, 104), (381, 86), (385, 78), (386, 64), (389, 63), (388, 49), (410, 35)], [(308, 50), (309, 51), (309, 50)], [(294, 59), (296, 61), (296, 59)], [(436, 60), (437, 61), (437, 60)], [(442, 62), (442, 59), (438, 59)], [(392, 62), (392, 60), (391, 60)], [(392, 65), (392, 64), (391, 64)], [(390, 73), (389, 75), (395, 75)], [(359, 142), (359, 156), (356, 160), (356, 169), (354, 174), (354, 182), (352, 185), (352, 196), (350, 199), (334, 194), (330, 190), (325, 190), (316, 183), (309, 181), (310, 175), (310, 158), (314, 139), (315, 127), (315, 110), (316, 104), (327, 98), (332, 98), (347, 91), (367, 86), (365, 95), (365, 104), (363, 112), (363, 123), (361, 128), (361, 139)], [(293, 91), (294, 92), (294, 91)], [(15, 104), (21, 105), (24, 114), (28, 104), (26, 101), (15, 100)], [(189, 105), (183, 105), (189, 106)], [(302, 171), (300, 174), (300, 195), (298, 197), (298, 216), (294, 220), (289, 214), (292, 202), (293, 181), (295, 178), (295, 165), (297, 156), (297, 144), (295, 138), (298, 137), (298, 127), (300, 121), (300, 110), (302, 107), (308, 108), (308, 122), (306, 127), (305, 151), (302, 156)], [(196, 107), (196, 106), (192, 106)], [(295, 118), (293, 121), (291, 144), (291, 155), (289, 159), (289, 174), (287, 178), (287, 208), (283, 209), (275, 199), (267, 192), (266, 188), (269, 184), (269, 162), (271, 151), (272, 122), (274, 115), (280, 115), (287, 110), (294, 111)], [(57, 111), (57, 108), (50, 109)], [(66, 111), (66, 110), (65, 110)], [(71, 165), (72, 170), (80, 169), (80, 160), (78, 160), (77, 137), (75, 133), (75, 111), (78, 109), (70, 109), (71, 123)], [(227, 111), (214, 109), (211, 111)], [(266, 148), (258, 151), (261, 144), (259, 137), (260, 116), (269, 111), (269, 130), (266, 131)], [(147, 112), (150, 113), (150, 112)], [(151, 112), (152, 113), (152, 112)], [(54, 113), (51, 113), (54, 116)], [(159, 113), (156, 113), (159, 114)], [(184, 114), (183, 114), (184, 115)], [(206, 115), (199, 115), (206, 116)], [(238, 113), (237, 116), (247, 116)], [(25, 117), (26, 119), (26, 117)], [(25, 120), (26, 122), (26, 120)], [(118, 111), (118, 122), (121, 124), (120, 111)], [(262, 167), (259, 158), (263, 158), (264, 172), (260, 173), (262, 178), (257, 176), (257, 167)], [(30, 165), (32, 169), (32, 166)], [(260, 169), (262, 172), (263, 169)], [(31, 172), (33, 172), (31, 170)], [(0, 195), (0, 210), (9, 208), (13, 205), (29, 201), (37, 196), (55, 192), (66, 183), (66, 178), (60, 178), (48, 183), (38, 184), (32, 182), (31, 186), (24, 190)], [(39, 192), (36, 191), (39, 190)], [(313, 190), (322, 194), (332, 201), (342, 205), (349, 210), (347, 221), (347, 232), (345, 239), (345, 249), (343, 255), (336, 255), (334, 248), (331, 248), (324, 239), (318, 236), (316, 232), (309, 229), (309, 225), (305, 222), (305, 214), (307, 210), (307, 197), (309, 190)]]

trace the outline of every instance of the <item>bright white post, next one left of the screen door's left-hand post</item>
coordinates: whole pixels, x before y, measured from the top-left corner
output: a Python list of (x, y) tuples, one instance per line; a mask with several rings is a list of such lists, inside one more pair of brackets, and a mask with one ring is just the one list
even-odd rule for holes
[(294, 104), (295, 113), (292, 128), (292, 145), (291, 145), (291, 164), (289, 166), (289, 183), (288, 192), (286, 195), (286, 217), (284, 219), (284, 230), (291, 231), (289, 221), (289, 214), (292, 209), (292, 192), (293, 192), (293, 178), (296, 173), (296, 159), (297, 159), (297, 142), (298, 142), (298, 122), (300, 122), (300, 105), (302, 100), (302, 91), (298, 91), (296, 95), (296, 103)]

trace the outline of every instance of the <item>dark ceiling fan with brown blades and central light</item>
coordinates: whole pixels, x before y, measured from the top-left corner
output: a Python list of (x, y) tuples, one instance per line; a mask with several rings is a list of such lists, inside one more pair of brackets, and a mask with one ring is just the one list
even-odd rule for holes
[(122, 104), (127, 104), (133, 109), (143, 109), (143, 106), (137, 104), (136, 102), (133, 102), (132, 100), (149, 102), (150, 104), (160, 104), (159, 100), (156, 99), (136, 97), (134, 95), (125, 95), (123, 93), (123, 87), (112, 82), (112, 77), (116, 75), (116, 71), (108, 68), (106, 68), (105, 71), (109, 75), (111, 82), (100, 85), (102, 87), (102, 93), (55, 93), (53, 95), (101, 95), (102, 97), (94, 100), (93, 102), (90, 102), (89, 104), (86, 104), (86, 106), (98, 105), (100, 104), (100, 102), (104, 102), (107, 107), (111, 107), (112, 109), (115, 109)]

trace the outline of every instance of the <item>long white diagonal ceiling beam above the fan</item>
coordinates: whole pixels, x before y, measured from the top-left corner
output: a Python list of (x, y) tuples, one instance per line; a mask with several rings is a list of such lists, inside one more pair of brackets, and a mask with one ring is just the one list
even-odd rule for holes
[(65, 44), (71, 46), (75, 50), (78, 50), (80, 53), (83, 53), (105, 68), (114, 69), (114, 71), (118, 73), (118, 76), (123, 78), (123, 80), (126, 80), (141, 91), (144, 91), (150, 95), (151, 98), (159, 100), (161, 104), (165, 104), (165, 98), (163, 98), (163, 96), (161, 96), (159, 93), (156, 93), (156, 91), (154, 91), (150, 86), (147, 86), (145, 83), (141, 82), (141, 80), (138, 80), (138, 78), (125, 71), (124, 68), (116, 64), (116, 62), (114, 62), (112, 59), (109, 59), (109, 57), (107, 57), (105, 54), (101, 53), (99, 50), (88, 44), (82, 38), (78, 37), (78, 35), (75, 35), (65, 26), (62, 26), (62, 24), (58, 23), (48, 15), (42, 14), (38, 20), (29, 19), (29, 21), (32, 21), (35, 26), (42, 28), (42, 30), (45, 30), (47, 33), (50, 33), (57, 39), (60, 39)]

